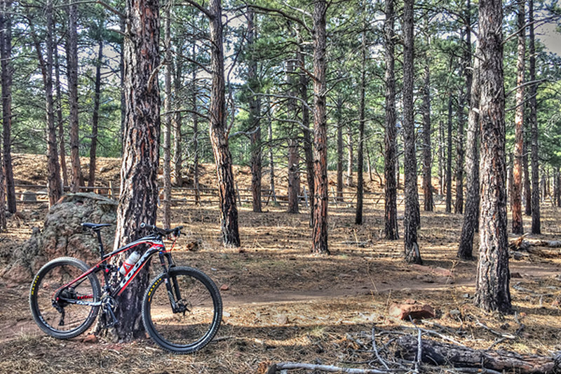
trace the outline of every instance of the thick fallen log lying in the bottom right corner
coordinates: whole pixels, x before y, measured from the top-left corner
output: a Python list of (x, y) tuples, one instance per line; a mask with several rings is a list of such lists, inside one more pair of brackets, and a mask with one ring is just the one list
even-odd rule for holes
[[(403, 336), (397, 340), (397, 345), (397, 357), (417, 361), (417, 338)], [(561, 354), (548, 357), (503, 350), (472, 349), (426, 339), (421, 340), (421, 362), (435, 366), (480, 368), (517, 374), (561, 373)]]

